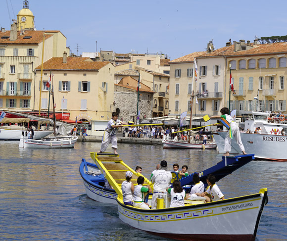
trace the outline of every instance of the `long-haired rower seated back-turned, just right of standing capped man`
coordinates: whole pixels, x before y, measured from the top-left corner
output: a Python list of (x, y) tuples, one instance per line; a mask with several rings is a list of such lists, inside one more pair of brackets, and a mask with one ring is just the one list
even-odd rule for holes
[(170, 193), (170, 207), (183, 207), (185, 205), (186, 192), (183, 190), (180, 181), (173, 182), (173, 188), (167, 188), (166, 191)]

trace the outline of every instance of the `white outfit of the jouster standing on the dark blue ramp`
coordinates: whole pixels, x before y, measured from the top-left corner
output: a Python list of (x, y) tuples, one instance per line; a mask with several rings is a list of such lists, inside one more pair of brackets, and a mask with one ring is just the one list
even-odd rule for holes
[(233, 121), (233, 118), (230, 115), (222, 115), (222, 118), (224, 118), (229, 124), (230, 124), (230, 129), (231, 131), (228, 131), (226, 133), (225, 137), (225, 143), (224, 143), (224, 151), (231, 151), (231, 137), (235, 138), (237, 144), (239, 145), (239, 148), (241, 151), (245, 151), (244, 146), (241, 142), (241, 137), (240, 137), (240, 131), (238, 125)]

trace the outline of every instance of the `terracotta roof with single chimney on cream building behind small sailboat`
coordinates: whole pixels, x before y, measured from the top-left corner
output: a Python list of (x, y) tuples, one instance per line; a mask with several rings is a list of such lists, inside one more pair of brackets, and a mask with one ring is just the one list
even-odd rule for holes
[[(67, 63), (63, 63), (63, 57), (53, 57), (43, 63), (43, 69), (47, 70), (99, 70), (110, 62), (94, 62), (88, 57), (67, 57)], [(41, 69), (41, 65), (36, 68)]]

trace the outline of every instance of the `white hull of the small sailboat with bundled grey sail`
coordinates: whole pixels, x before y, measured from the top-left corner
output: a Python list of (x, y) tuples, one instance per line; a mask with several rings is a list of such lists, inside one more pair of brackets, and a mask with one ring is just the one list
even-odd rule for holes
[[(57, 139), (32, 140), (24, 139), (24, 148), (73, 148), (78, 137), (62, 137)], [(22, 140), (20, 140), (21, 144)], [(19, 147), (21, 147), (19, 145)]]

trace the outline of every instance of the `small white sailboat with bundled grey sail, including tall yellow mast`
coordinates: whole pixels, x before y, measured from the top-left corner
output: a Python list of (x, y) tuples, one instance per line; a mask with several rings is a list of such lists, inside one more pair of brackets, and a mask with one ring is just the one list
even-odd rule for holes
[[(39, 104), (39, 116), (41, 113), (41, 94), (42, 94), (42, 78), (43, 78), (43, 55), (44, 55), (44, 43), (45, 43), (45, 35), (44, 35), (44, 41), (43, 41), (43, 52), (42, 52), (42, 66), (41, 66), (41, 82), (40, 82), (40, 104)], [(48, 81), (48, 87), (50, 86), (51, 82), (51, 74), (50, 79)], [(68, 133), (71, 133), (73, 129), (73, 125), (70, 124), (64, 124), (62, 122), (56, 122), (55, 117), (55, 104), (54, 104), (54, 90), (53, 90), (53, 83), (52, 83), (52, 104), (53, 104), (53, 120), (46, 119), (46, 123), (53, 123), (54, 127), (54, 136), (53, 137), (47, 137), (40, 140), (32, 140), (21, 137), (19, 148), (73, 148), (75, 143), (78, 140), (77, 136), (67, 136)], [(41, 118), (41, 117), (39, 117)], [(61, 131), (57, 131), (57, 133), (65, 134), (66, 136), (56, 136), (56, 125), (59, 124), (61, 127)]]

